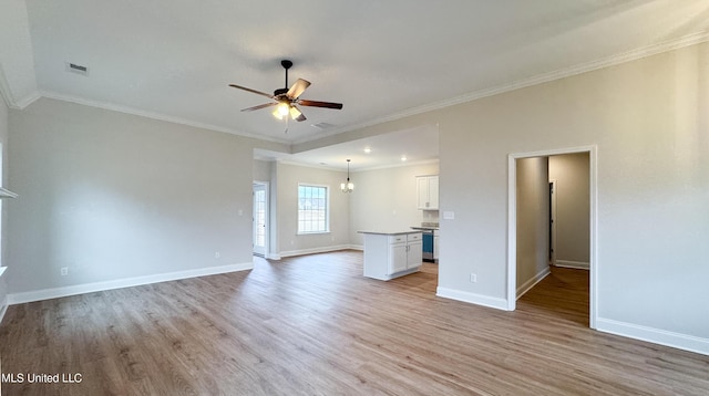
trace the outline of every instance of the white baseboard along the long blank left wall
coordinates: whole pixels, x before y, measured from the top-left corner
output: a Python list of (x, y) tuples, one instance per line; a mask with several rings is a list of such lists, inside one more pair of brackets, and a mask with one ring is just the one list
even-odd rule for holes
[(138, 286), (142, 284), (176, 281), (179, 279), (207, 277), (207, 275), (216, 275), (219, 273), (245, 271), (245, 270), (250, 270), (253, 268), (254, 268), (253, 262), (245, 262), (239, 264), (208, 267), (208, 268), (201, 268), (195, 270), (158, 273), (154, 275), (117, 279), (114, 281), (75, 284), (71, 286), (43, 289), (43, 290), (33, 290), (29, 292), (8, 294), (8, 303), (21, 304), (25, 302), (58, 299), (58, 298), (68, 296), (68, 295), (93, 293), (93, 292), (100, 292), (104, 290), (131, 288), (131, 286)]

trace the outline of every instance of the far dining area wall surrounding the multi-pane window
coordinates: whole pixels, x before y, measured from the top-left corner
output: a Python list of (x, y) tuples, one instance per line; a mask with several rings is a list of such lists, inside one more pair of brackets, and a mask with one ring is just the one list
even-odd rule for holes
[[(340, 183), (347, 173), (314, 168), (286, 163), (273, 165), (276, 169), (276, 181), (271, 185), (271, 198), (276, 197), (278, 252), (276, 256), (287, 257), (308, 252), (327, 251), (347, 248), (349, 241), (349, 195), (340, 191)], [(330, 232), (298, 235), (298, 184), (312, 184), (330, 188)], [(274, 232), (274, 230), (271, 230)]]

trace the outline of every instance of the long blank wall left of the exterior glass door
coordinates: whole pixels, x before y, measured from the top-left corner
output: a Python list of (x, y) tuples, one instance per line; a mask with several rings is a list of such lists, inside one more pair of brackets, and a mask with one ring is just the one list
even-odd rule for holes
[(267, 143), (53, 100), (10, 111), (10, 142), (19, 300), (250, 264), (253, 149)]

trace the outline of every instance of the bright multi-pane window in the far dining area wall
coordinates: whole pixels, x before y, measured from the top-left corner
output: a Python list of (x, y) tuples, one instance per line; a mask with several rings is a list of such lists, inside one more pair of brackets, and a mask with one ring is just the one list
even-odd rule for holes
[(298, 185), (298, 233), (330, 231), (328, 200), (328, 187)]

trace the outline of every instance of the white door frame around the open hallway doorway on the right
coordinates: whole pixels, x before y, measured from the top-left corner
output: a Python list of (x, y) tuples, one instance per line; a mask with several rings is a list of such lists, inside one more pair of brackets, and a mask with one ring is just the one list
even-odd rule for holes
[(516, 280), (517, 280), (517, 173), (516, 160), (532, 157), (549, 157), (564, 154), (588, 153), (589, 178), (589, 298), (588, 323), (590, 329), (596, 329), (597, 320), (597, 286), (598, 265), (597, 259), (597, 146), (579, 146), (557, 148), (531, 153), (516, 153), (507, 155), (507, 311), (516, 309)]

